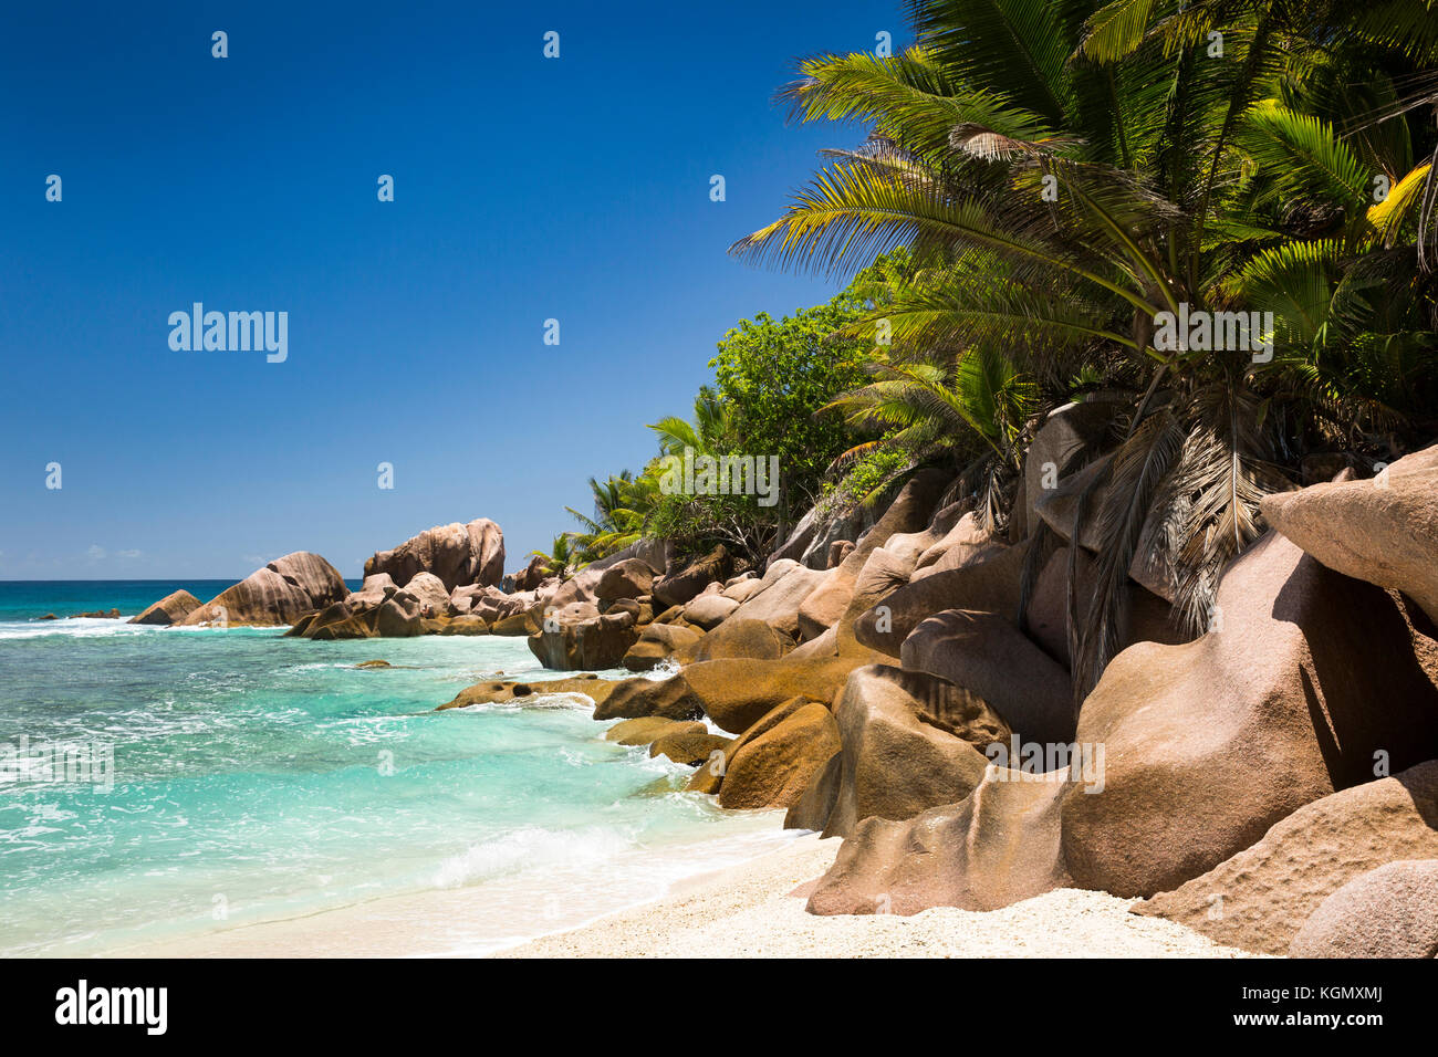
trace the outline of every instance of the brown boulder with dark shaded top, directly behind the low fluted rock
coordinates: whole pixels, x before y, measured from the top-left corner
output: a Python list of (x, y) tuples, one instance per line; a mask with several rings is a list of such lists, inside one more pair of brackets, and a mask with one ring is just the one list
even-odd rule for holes
[(834, 718), (843, 762), (825, 836), (848, 836), (871, 815), (912, 818), (963, 800), (984, 779), (985, 746), (1012, 736), (974, 695), (883, 664), (850, 674)]

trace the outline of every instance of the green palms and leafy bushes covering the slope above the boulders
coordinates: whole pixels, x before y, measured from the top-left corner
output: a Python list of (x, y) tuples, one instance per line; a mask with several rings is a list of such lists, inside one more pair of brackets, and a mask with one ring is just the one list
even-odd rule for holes
[[(1106, 430), (1061, 467), (1089, 467), (1066, 535), (1099, 541), (1089, 608), (1070, 592), (1081, 699), (1135, 555), (1196, 633), (1306, 459), (1438, 431), (1438, 0), (907, 7), (902, 53), (798, 62), (792, 118), (861, 135), (732, 249), (851, 285), (731, 331), (695, 420), (654, 429), (664, 452), (792, 440), (792, 512), (948, 465), (1002, 529), (1037, 430), (1093, 406)], [(1251, 321), (1241, 348), (1156, 339), (1219, 314)], [(581, 551), (664, 535), (758, 558), (791, 523), (649, 475), (595, 486)], [(1057, 545), (1028, 528), (1032, 554)]]

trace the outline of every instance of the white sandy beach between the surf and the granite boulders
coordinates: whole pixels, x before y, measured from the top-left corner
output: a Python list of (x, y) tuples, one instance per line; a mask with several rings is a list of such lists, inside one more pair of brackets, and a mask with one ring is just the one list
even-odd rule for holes
[[(692, 877), (663, 899), (495, 951), (496, 958), (1248, 958), (1133, 903), (1063, 889), (976, 913), (933, 909), (820, 918), (795, 887), (823, 874), (837, 840), (797, 836), (738, 866)], [(114, 951), (157, 958), (345, 958), (467, 953), (480, 890), (374, 900), (339, 910)], [(447, 935), (446, 951), (434, 936)]]

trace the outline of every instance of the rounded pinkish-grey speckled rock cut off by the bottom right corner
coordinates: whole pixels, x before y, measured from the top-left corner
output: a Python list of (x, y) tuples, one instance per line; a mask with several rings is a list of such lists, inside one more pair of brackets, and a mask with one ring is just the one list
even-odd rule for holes
[(1319, 903), (1290, 958), (1438, 958), (1438, 859), (1389, 863)]

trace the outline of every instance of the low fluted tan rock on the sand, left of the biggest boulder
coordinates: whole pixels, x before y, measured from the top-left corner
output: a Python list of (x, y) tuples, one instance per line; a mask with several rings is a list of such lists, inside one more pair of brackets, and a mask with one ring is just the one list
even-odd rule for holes
[(958, 804), (866, 818), (810, 892), (808, 912), (997, 910), (1068, 884), (1060, 846), (1066, 774), (991, 767)]

